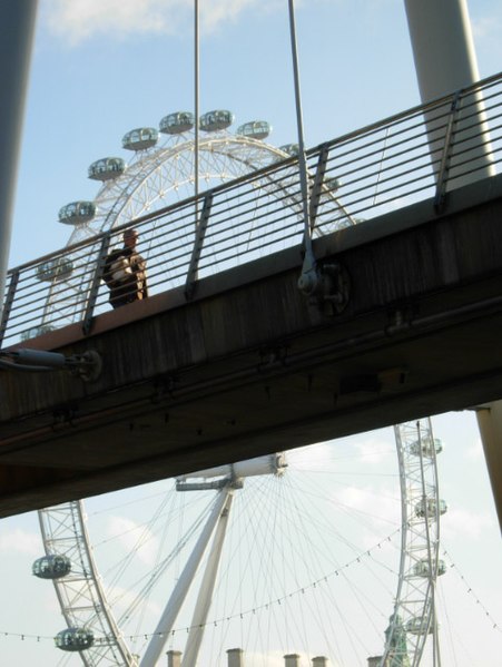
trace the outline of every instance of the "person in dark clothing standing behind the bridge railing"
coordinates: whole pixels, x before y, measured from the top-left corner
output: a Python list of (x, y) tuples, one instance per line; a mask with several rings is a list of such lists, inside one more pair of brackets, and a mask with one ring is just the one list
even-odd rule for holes
[(138, 237), (137, 229), (126, 229), (124, 247), (111, 251), (105, 261), (102, 278), (114, 308), (148, 297), (146, 262), (136, 249)]

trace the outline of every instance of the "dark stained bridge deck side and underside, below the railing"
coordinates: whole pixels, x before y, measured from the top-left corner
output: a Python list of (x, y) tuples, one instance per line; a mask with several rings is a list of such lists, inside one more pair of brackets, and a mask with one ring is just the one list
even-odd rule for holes
[(336, 316), (293, 248), (26, 343), (102, 372), (0, 374), (0, 517), (502, 398), (501, 220), (495, 177), (316, 241)]

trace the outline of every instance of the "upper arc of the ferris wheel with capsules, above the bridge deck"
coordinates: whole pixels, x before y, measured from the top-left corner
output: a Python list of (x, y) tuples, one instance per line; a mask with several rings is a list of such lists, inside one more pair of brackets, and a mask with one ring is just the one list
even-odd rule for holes
[[(70, 202), (60, 208), (59, 222), (71, 228), (67, 251), (38, 268), (38, 278), (49, 285), (48, 296), (40, 325), (27, 332), (23, 337), (43, 333), (52, 328), (56, 322), (60, 326), (61, 322), (70, 324), (81, 320), (92, 284), (92, 272), (89, 267), (97, 266), (99, 259), (101, 241), (98, 235), (108, 233), (110, 243), (121, 242), (119, 234), (112, 234), (115, 228), (166, 206), (193, 199), (194, 194), (208, 192), (250, 173), (262, 174), (253, 184), (253, 188), (262, 193), (259, 209), (248, 214), (246, 229), (239, 229), (240, 236), (247, 235), (252, 239), (256, 235), (254, 227), (259, 225), (258, 220), (264, 216), (267, 200), (280, 202), (298, 220), (303, 219), (296, 165), (292, 164), (282, 174), (280, 185), (274, 183), (266, 170), (262, 173), (267, 166), (297, 156), (298, 145), (287, 144), (277, 148), (268, 144), (266, 139), (272, 127), (267, 121), (245, 122), (235, 133), (230, 131), (233, 122), (232, 111), (209, 111), (199, 118), (200, 135), (196, 137), (194, 115), (188, 111), (173, 112), (160, 120), (159, 129), (135, 128), (124, 136), (122, 148), (131, 156), (128, 163), (121, 157), (109, 156), (89, 166), (89, 178), (101, 186), (93, 200)], [(337, 186), (336, 179), (326, 178), (322, 198), (332, 204), (332, 215), (333, 204), (339, 215), (336, 216), (335, 223), (323, 224), (321, 213), (321, 225), (314, 229), (314, 234), (333, 232), (354, 224), (337, 199)], [(239, 196), (233, 194), (229, 204), (233, 209), (238, 206)], [(184, 249), (177, 252), (176, 263), (186, 263), (187, 267), (195, 243), (195, 222), (200, 215), (197, 206), (195, 203), (193, 219), (187, 218), (178, 230), (169, 232), (184, 239)], [(273, 238), (274, 228), (278, 233), (280, 222), (272, 219), (267, 220), (267, 235)], [(95, 244), (91, 243), (92, 238), (96, 238)], [(86, 241), (86, 245), (78, 245)], [(169, 248), (166, 244), (163, 244), (166, 246), (166, 249), (163, 249), (158, 244), (151, 245), (151, 241), (149, 243), (145, 252), (141, 249), (141, 254), (149, 263), (151, 253), (157, 266), (163, 265), (161, 291), (178, 286), (179, 276), (168, 275), (173, 259)], [(185, 255), (181, 256), (183, 254)], [(155, 291), (154, 284), (154, 293)]]

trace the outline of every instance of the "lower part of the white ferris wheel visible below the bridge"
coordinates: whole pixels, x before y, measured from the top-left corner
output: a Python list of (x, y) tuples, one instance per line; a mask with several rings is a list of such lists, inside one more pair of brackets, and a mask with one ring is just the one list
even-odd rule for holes
[(353, 438), (41, 510), (58, 648), (86, 667), (216, 667), (235, 646), (249, 667), (439, 665), (442, 443), (430, 420), (395, 434), (397, 465)]

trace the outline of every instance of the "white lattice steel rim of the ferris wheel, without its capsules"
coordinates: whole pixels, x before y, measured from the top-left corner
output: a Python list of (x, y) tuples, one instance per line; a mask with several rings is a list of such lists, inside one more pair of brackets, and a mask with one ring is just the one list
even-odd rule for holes
[[(288, 157), (287, 154), (285, 154), (283, 150), (275, 148), (268, 144), (265, 144), (263, 141), (257, 141), (255, 139), (249, 139), (246, 137), (235, 137), (233, 135), (230, 135), (229, 133), (223, 131), (223, 133), (217, 133), (217, 136), (208, 136), (207, 138), (203, 139), (203, 141), (200, 143), (200, 155), (203, 156), (203, 160), (201, 160), (201, 167), (203, 167), (203, 171), (205, 168), (205, 158), (207, 157), (207, 163), (209, 164), (210, 160), (215, 159), (215, 156), (218, 156), (223, 159), (224, 165), (226, 163), (232, 164), (233, 166), (237, 165), (237, 168), (243, 168), (243, 167), (249, 167), (249, 166), (255, 166), (256, 168), (256, 164), (253, 164), (249, 160), (246, 160), (246, 158), (243, 158), (243, 156), (240, 155), (240, 153), (245, 153), (245, 151), (263, 151), (264, 156), (266, 158), (266, 160), (269, 159), (284, 159), (285, 157)], [(169, 183), (165, 183), (164, 186), (158, 189), (158, 184), (157, 184), (157, 192), (154, 194), (154, 190), (150, 187), (150, 183), (154, 178), (154, 176), (157, 174), (161, 174), (163, 173), (163, 165), (165, 165), (166, 163), (170, 164), (173, 163), (173, 160), (178, 160), (179, 164), (179, 156), (184, 156), (184, 155), (191, 155), (193, 154), (193, 149), (194, 149), (194, 141), (193, 139), (189, 140), (179, 140), (177, 139), (174, 145), (168, 145), (167, 147), (156, 147), (155, 149), (149, 149), (149, 150), (145, 150), (145, 151), (140, 151), (138, 153), (136, 160), (134, 160), (131, 163), (131, 169), (129, 173), (125, 173), (125, 175), (120, 178), (117, 179), (117, 182), (114, 183), (105, 183), (95, 202), (97, 204), (98, 209), (101, 208), (101, 213), (98, 216), (98, 228), (92, 227), (92, 225), (88, 225), (88, 226), (79, 226), (76, 232), (71, 235), (68, 245), (71, 245), (75, 243), (76, 241), (76, 235), (77, 236), (81, 236), (82, 234), (87, 234), (87, 235), (93, 235), (96, 233), (102, 232), (102, 230), (108, 230), (108, 229), (112, 229), (115, 226), (118, 226), (121, 224), (122, 220), (121, 218), (121, 214), (122, 212), (126, 212), (128, 216), (132, 215), (130, 213), (130, 209), (128, 209), (127, 205), (128, 203), (131, 203), (135, 198), (137, 198), (139, 200), (139, 209), (136, 209), (138, 214), (140, 214), (141, 212), (146, 210), (146, 208), (141, 208), (141, 206), (151, 206), (152, 204), (159, 202), (161, 199), (160, 194), (159, 193), (173, 193), (173, 192), (177, 192), (179, 190), (179, 188), (181, 186), (185, 185), (193, 185), (193, 177), (190, 176), (189, 171), (188, 171), (188, 167), (190, 165), (190, 160), (184, 160), (184, 167), (178, 171), (178, 177), (177, 178), (171, 178), (169, 176)], [(243, 153), (243, 155), (244, 155)], [(181, 160), (183, 161), (183, 160)], [(220, 166), (219, 167), (219, 171), (215, 168), (211, 171), (207, 171), (207, 174), (209, 174), (208, 179), (213, 179), (213, 178), (220, 178), (222, 180), (225, 180), (226, 178), (235, 178), (236, 176), (238, 176), (238, 174), (235, 173), (230, 173), (230, 170), (226, 170), (225, 168), (222, 169)], [(166, 174), (169, 174), (169, 171), (165, 171), (164, 173), (164, 178), (166, 178)], [(120, 200), (120, 205), (115, 205), (115, 202), (111, 203), (110, 206), (110, 200), (114, 198), (114, 193), (116, 192), (116, 189), (119, 189), (119, 192), (121, 193), (120, 195), (120, 199), (116, 199), (115, 202)], [(110, 197), (110, 193), (111, 193), (111, 197)], [(139, 193), (139, 196), (138, 196)], [(107, 203), (108, 200), (108, 203)], [(106, 208), (106, 206), (108, 206), (108, 209)], [(398, 467), (400, 467), (400, 479), (401, 479), (401, 507), (402, 507), (402, 517), (403, 517), (403, 521), (402, 521), (402, 548), (401, 548), (401, 560), (400, 560), (400, 571), (398, 571), (398, 576), (397, 576), (397, 592), (396, 592), (396, 599), (395, 599), (395, 614), (393, 614), (392, 618), (395, 618), (395, 616), (404, 608), (403, 605), (403, 599), (402, 599), (402, 591), (404, 590), (404, 583), (406, 581), (406, 577), (407, 573), (410, 571), (411, 568), (411, 562), (410, 562), (410, 550), (409, 550), (409, 536), (410, 536), (410, 521), (409, 521), (409, 512), (410, 512), (410, 501), (407, 498), (407, 489), (409, 489), (409, 471), (406, 470), (406, 457), (403, 455), (403, 451), (405, 449), (405, 444), (403, 444), (403, 442), (400, 442), (400, 437), (396, 435), (396, 447), (397, 447), (397, 460), (398, 460)], [(431, 489), (434, 489), (434, 492), (437, 493), (437, 480), (436, 480), (436, 469), (435, 469), (435, 460), (434, 460), (434, 472), (433, 472), (433, 480), (432, 482), (430, 482), (430, 487)], [(436, 498), (436, 504), (439, 504), (439, 498)], [(120, 660), (122, 660), (122, 663), (117, 663), (117, 664), (125, 664), (127, 666), (135, 666), (136, 665), (136, 658), (134, 657), (132, 653), (129, 650), (129, 648), (127, 647), (127, 644), (124, 640), (124, 634), (120, 630), (120, 628), (118, 627), (118, 625), (116, 624), (116, 621), (114, 620), (114, 615), (111, 611), (111, 607), (108, 604), (102, 586), (100, 583), (100, 577), (98, 575), (97, 568), (96, 568), (96, 563), (93, 562), (93, 558), (92, 558), (92, 545), (90, 543), (90, 539), (89, 539), (89, 534), (88, 534), (88, 530), (87, 530), (87, 526), (86, 526), (86, 518), (85, 518), (85, 512), (82, 509), (82, 503), (81, 501), (75, 502), (75, 503), (68, 503), (67, 506), (61, 506), (59, 508), (46, 508), (43, 510), (40, 510), (39, 516), (40, 516), (40, 523), (42, 527), (42, 539), (43, 539), (43, 543), (45, 543), (45, 548), (46, 548), (46, 552), (49, 553), (49, 549), (53, 548), (53, 536), (50, 533), (51, 528), (50, 526), (52, 524), (52, 520), (48, 521), (48, 519), (51, 516), (51, 512), (57, 512), (59, 514), (59, 518), (57, 519), (57, 523), (59, 526), (63, 524), (65, 521), (67, 519), (62, 519), (61, 520), (61, 512), (65, 512), (65, 508), (67, 510), (67, 517), (71, 516), (72, 519), (71, 521), (75, 523), (76, 526), (76, 538), (77, 538), (77, 533), (78, 533), (78, 541), (82, 547), (82, 552), (80, 555), (80, 558), (83, 559), (85, 561), (87, 561), (89, 563), (89, 572), (90, 572), (90, 577), (89, 577), (89, 590), (87, 591), (87, 596), (90, 596), (90, 599), (97, 599), (99, 600), (99, 608), (100, 608), (100, 619), (99, 619), (99, 624), (101, 625), (102, 628), (107, 628), (105, 634), (111, 634), (112, 636), (112, 641), (110, 645), (112, 645), (114, 650), (115, 651), (119, 651), (120, 654)], [(437, 521), (437, 526), (439, 526), (439, 521)], [(439, 530), (439, 528), (437, 528)], [(427, 534), (430, 536), (430, 532), (427, 532)], [(431, 537), (431, 536), (430, 536)], [(434, 538), (434, 549), (435, 549), (435, 559), (437, 560), (437, 551), (436, 551), (436, 545), (437, 545), (437, 540)], [(426, 546), (426, 550), (429, 551), (429, 553), (431, 552), (431, 541), (429, 542), (429, 545)], [(68, 604), (69, 600), (69, 595), (67, 591), (65, 591), (65, 582), (61, 581), (57, 581), (55, 580), (55, 587), (57, 590), (57, 595), (61, 605), (61, 608), (63, 608), (66, 610), (66, 619), (67, 622), (70, 625), (71, 622), (73, 622), (75, 618), (71, 615), (71, 605)], [(426, 590), (423, 592), (422, 597), (423, 600), (421, 601), (422, 605), (422, 617), (425, 618), (425, 626), (426, 626), (426, 632), (421, 632), (417, 634), (417, 640), (413, 644), (413, 661), (411, 663), (412, 666), (414, 665), (419, 665), (420, 664), (420, 659), (421, 659), (421, 655), (423, 653), (423, 648), (424, 648), (424, 644), (425, 644), (425, 638), (426, 635), (429, 634), (429, 627), (432, 622), (432, 611), (431, 611), (431, 595), (432, 595), (432, 590), (431, 587), (429, 586), (426, 588)], [(390, 640), (393, 637), (393, 632), (395, 631), (395, 627), (393, 626), (393, 622), (391, 621), (391, 632), (390, 632)], [(391, 651), (391, 647), (387, 646), (385, 648), (385, 653), (383, 655), (382, 659), (385, 659), (385, 656), (388, 655), (388, 653)], [(86, 661), (86, 651), (81, 653), (81, 657), (83, 660), (83, 664), (86, 665), (86, 667), (92, 667), (95, 664), (91, 660)]]

